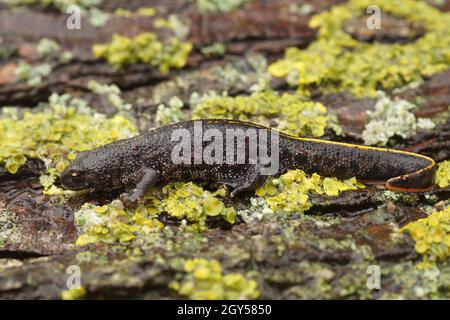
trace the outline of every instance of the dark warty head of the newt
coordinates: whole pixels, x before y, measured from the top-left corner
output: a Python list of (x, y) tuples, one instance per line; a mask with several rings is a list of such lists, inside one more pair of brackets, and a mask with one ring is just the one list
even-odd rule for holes
[(61, 174), (61, 185), (69, 190), (107, 190), (120, 186), (114, 174), (116, 159), (100, 149), (80, 152)]

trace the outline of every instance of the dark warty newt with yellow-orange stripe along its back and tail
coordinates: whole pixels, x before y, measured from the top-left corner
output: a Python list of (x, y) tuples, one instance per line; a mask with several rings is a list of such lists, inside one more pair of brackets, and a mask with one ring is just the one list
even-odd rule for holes
[[(261, 164), (252, 163), (250, 156), (246, 156), (244, 163), (196, 163), (195, 159), (185, 163), (173, 161), (173, 152), (180, 147), (180, 141), (173, 138), (174, 132), (183, 129), (192, 141), (196, 141), (196, 126), (200, 126), (203, 132), (212, 129), (209, 132), (223, 136), (227, 130), (265, 130), (272, 141), (275, 141), (273, 137), (278, 137), (278, 166), (273, 175), (301, 169), (322, 176), (341, 179), (356, 177), (361, 182), (383, 182), (387, 189), (407, 192), (429, 191), (434, 185), (436, 163), (420, 154), (297, 138), (260, 125), (234, 120), (174, 123), (80, 152), (62, 173), (61, 185), (70, 190), (125, 188), (127, 192), (121, 195), (121, 199), (125, 205), (133, 206), (157, 182), (218, 182), (233, 188), (232, 196), (237, 192), (253, 190), (264, 183), (267, 175), (261, 174)], [(201, 141), (200, 144), (205, 149), (211, 141), (214, 140)], [(238, 150), (238, 143), (231, 149), (234, 156), (242, 155), (243, 152), (249, 154), (252, 142), (249, 139), (244, 141), (245, 150)], [(269, 144), (270, 141), (268, 139)], [(224, 149), (226, 145), (229, 146), (230, 142), (223, 139)], [(194, 148), (192, 146), (189, 150), (192, 151), (192, 157), (196, 152)], [(211, 154), (214, 155), (214, 152)], [(225, 159), (225, 155), (217, 159)]]

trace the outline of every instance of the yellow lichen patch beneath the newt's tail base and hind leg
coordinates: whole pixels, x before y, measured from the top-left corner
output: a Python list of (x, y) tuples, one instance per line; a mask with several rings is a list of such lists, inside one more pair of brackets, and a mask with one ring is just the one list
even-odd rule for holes
[(356, 190), (364, 186), (355, 178), (339, 181), (336, 178), (322, 178), (314, 173), (308, 176), (302, 170), (291, 170), (279, 178), (269, 180), (256, 190), (273, 211), (305, 212), (312, 204), (309, 193), (337, 196), (345, 190)]

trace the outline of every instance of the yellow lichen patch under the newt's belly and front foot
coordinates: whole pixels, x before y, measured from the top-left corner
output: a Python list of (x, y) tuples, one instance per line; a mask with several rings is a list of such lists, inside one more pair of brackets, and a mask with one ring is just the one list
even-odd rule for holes
[(209, 192), (192, 182), (171, 183), (162, 189), (152, 188), (136, 209), (124, 208), (120, 200), (103, 206), (84, 204), (75, 213), (80, 234), (76, 244), (126, 244), (146, 238), (164, 227), (158, 220), (163, 213), (178, 220), (181, 228), (190, 232), (204, 231), (208, 217), (222, 217), (234, 223), (234, 208), (225, 207), (218, 196), (225, 196), (225, 189)]

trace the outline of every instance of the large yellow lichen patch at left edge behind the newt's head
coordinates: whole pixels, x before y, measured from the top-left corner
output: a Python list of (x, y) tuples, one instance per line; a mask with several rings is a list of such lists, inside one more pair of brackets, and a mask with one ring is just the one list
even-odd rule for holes
[(132, 136), (136, 127), (121, 115), (107, 118), (79, 99), (54, 94), (41, 112), (25, 112), (20, 120), (0, 118), (0, 162), (16, 173), (26, 158), (44, 161), (47, 175), (44, 187), (75, 158), (77, 152)]

